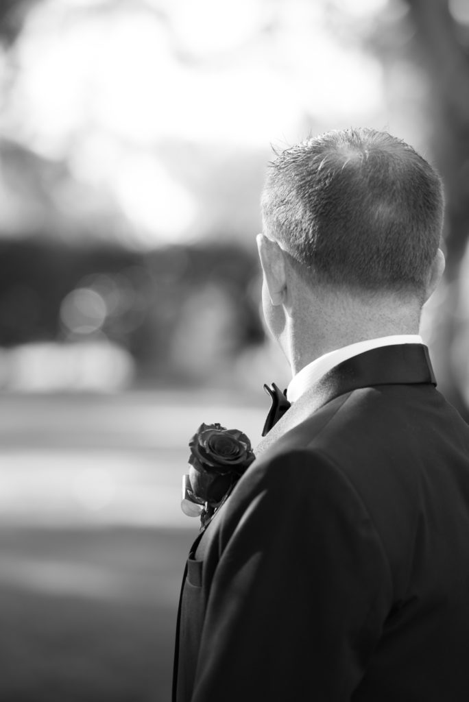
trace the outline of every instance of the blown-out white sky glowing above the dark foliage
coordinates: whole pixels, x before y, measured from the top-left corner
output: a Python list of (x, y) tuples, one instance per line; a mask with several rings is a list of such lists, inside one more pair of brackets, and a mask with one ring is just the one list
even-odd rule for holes
[[(386, 0), (336, 0), (360, 24)], [(268, 152), (387, 121), (378, 60), (326, 0), (45, 0), (15, 47), (1, 133), (116, 203), (141, 244), (190, 237), (197, 194), (161, 145)]]

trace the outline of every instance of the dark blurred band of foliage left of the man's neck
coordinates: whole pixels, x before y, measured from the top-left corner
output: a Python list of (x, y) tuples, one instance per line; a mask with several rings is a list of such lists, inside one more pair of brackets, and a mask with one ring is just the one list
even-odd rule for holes
[[(253, 254), (235, 244), (138, 253), (112, 244), (67, 246), (40, 235), (0, 239), (1, 345), (105, 335), (136, 359), (137, 381), (194, 381), (204, 366), (213, 373), (207, 345), (213, 363), (223, 367), (244, 347), (262, 342), (258, 276)], [(74, 290), (103, 299), (107, 313), (98, 329), (63, 323), (62, 305)], [(220, 344), (223, 357), (217, 359)], [(192, 362), (194, 352), (201, 363)]]

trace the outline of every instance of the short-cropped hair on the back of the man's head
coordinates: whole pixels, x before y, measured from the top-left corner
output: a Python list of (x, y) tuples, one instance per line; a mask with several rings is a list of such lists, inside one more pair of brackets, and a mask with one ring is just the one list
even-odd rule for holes
[(293, 146), (270, 165), (262, 205), (265, 234), (312, 284), (423, 296), (442, 182), (402, 140), (359, 128)]

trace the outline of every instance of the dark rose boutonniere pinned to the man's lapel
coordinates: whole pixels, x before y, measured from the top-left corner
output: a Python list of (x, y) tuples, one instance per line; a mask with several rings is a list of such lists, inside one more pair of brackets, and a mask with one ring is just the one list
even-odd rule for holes
[(190, 469), (183, 476), (181, 508), (188, 517), (200, 515), (203, 528), (256, 456), (243, 432), (220, 424), (200, 425), (189, 448)]

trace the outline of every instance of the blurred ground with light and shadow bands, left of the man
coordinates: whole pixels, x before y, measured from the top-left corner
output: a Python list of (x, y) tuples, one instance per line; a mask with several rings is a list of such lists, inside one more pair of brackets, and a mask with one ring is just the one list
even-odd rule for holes
[[(262, 402), (263, 397), (260, 397)], [(200, 393), (0, 397), (1, 702), (169, 702), (187, 442), (260, 438), (264, 407)]]

